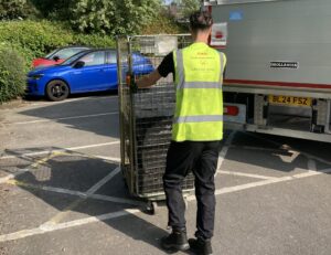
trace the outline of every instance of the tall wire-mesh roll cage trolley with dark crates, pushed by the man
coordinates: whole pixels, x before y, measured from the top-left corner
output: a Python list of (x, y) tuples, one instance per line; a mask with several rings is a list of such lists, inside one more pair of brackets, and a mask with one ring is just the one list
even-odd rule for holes
[[(186, 34), (117, 40), (121, 171), (130, 193), (150, 201), (164, 199), (162, 176), (175, 105), (173, 77), (136, 93), (130, 91), (128, 77), (152, 72), (168, 53), (190, 43)], [(193, 190), (193, 183), (190, 173), (183, 183), (184, 194)]]

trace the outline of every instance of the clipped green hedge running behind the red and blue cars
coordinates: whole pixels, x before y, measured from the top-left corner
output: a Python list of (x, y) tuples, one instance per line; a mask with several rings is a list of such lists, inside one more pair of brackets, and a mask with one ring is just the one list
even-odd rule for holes
[(6, 21), (0, 22), (0, 44), (19, 51), (26, 62), (51, 52), (58, 46), (87, 45), (114, 47), (115, 40), (98, 34), (75, 33), (65, 23), (50, 21)]

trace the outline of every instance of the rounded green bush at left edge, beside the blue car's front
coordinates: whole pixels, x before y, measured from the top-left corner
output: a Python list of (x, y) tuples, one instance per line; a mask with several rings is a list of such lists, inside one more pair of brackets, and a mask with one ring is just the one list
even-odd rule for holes
[(24, 60), (11, 47), (0, 46), (0, 104), (24, 94)]

